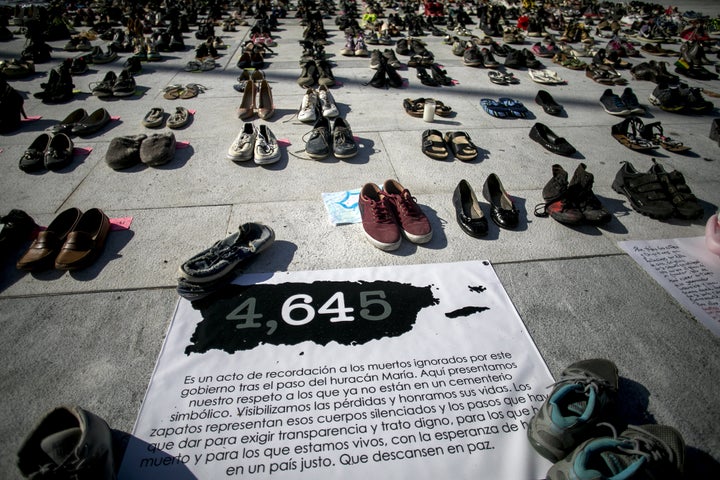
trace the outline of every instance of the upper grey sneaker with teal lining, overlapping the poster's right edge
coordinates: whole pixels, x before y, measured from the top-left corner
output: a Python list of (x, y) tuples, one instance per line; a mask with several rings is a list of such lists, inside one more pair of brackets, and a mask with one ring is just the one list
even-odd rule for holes
[(530, 420), (530, 444), (548, 460), (565, 458), (581, 442), (592, 437), (618, 388), (617, 367), (610, 360), (575, 362), (560, 374), (552, 393)]

